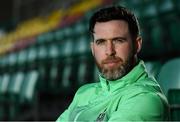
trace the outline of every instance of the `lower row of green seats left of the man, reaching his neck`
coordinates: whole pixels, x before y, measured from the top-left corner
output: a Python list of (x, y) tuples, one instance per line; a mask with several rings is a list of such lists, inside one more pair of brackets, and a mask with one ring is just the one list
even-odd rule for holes
[[(36, 110), (39, 104), (36, 97), (39, 93), (68, 96), (81, 85), (96, 82), (97, 72), (94, 61), (82, 56), (63, 61), (53, 60), (51, 64), (40, 63), (30, 71), (19, 70), (1, 74), (0, 120), (17, 120), (25, 105)], [(25, 111), (27, 114), (25, 120), (28, 118), (33, 120), (32, 114), (28, 116), (30, 110)], [(37, 110), (34, 112), (37, 113)]]

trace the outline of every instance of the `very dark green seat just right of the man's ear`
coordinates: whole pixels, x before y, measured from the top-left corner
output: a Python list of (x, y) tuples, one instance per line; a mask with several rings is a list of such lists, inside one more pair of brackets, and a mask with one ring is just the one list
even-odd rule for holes
[(164, 28), (157, 18), (147, 20), (142, 30), (142, 55), (145, 57), (159, 57), (165, 55), (167, 46), (164, 43)]

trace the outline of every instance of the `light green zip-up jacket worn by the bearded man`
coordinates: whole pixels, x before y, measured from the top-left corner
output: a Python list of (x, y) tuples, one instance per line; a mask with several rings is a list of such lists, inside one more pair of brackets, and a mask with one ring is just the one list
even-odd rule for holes
[(166, 97), (155, 79), (149, 77), (143, 61), (121, 79), (99, 79), (76, 92), (57, 122), (167, 120)]

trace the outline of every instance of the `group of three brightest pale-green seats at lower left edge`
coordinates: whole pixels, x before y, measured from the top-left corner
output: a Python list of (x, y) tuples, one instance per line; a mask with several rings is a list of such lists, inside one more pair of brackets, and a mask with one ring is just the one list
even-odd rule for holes
[(21, 107), (37, 102), (35, 95), (38, 77), (35, 70), (0, 76), (0, 120), (13, 120)]

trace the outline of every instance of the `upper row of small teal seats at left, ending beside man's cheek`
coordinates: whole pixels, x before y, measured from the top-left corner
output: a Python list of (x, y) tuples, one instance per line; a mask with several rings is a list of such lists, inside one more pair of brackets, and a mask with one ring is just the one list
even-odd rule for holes
[(5, 72), (8, 70), (8, 67), (21, 67), (25, 64), (36, 63), (37, 61), (42, 62), (45, 60), (86, 55), (90, 53), (90, 42), (87, 40), (90, 40), (88, 36), (80, 36), (74, 40), (30, 46), (24, 50), (12, 52), (1, 57), (0, 67)]

